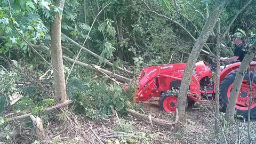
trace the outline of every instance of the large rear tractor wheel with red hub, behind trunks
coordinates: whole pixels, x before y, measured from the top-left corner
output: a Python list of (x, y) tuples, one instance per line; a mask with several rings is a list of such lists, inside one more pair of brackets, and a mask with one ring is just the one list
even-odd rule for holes
[[(227, 109), (228, 99), (230, 97), (231, 89), (233, 87), (235, 77), (237, 71), (234, 73), (230, 73), (225, 77), (225, 79), (220, 84), (220, 105), (224, 111)], [(244, 75), (243, 83), (241, 85), (241, 89), (238, 93), (238, 98), (236, 101), (235, 109), (238, 115), (241, 115), (248, 118), (248, 109), (249, 109), (249, 74)], [(256, 75), (253, 78), (252, 84), (252, 105), (251, 105), (251, 118), (256, 118), (256, 101), (255, 101), (255, 94), (256, 94)]]

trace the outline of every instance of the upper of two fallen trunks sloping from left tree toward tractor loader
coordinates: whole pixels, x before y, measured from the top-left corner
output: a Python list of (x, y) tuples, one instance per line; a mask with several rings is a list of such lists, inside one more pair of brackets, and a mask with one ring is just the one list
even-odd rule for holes
[[(62, 34), (62, 33), (61, 33), (61, 36), (64, 37), (64, 38), (66, 38), (66, 39), (68, 39), (69, 42), (75, 44), (76, 46), (82, 47), (82, 45), (79, 45), (77, 42), (75, 42), (73, 39), (69, 38), (69, 37), (66, 36), (65, 34)], [(96, 53), (94, 53), (94, 52), (92, 52), (92, 51), (86, 49), (85, 47), (82, 47), (82, 48), (83, 48), (83, 50), (85, 50), (87, 53), (90, 53), (91, 55), (93, 55), (93, 57), (95, 57), (95, 58), (97, 58), (97, 59), (100, 59), (100, 58), (101, 58), (100, 55), (98, 55), (98, 54), (96, 54)], [(107, 59), (105, 59), (105, 60), (106, 60), (106, 64), (107, 64), (107, 65), (109, 65), (109, 66), (111, 66), (111, 67), (114, 66), (114, 64), (111, 63), (111, 62), (109, 62), (109, 60), (107, 60)], [(129, 70), (127, 70), (127, 69), (124, 69), (124, 68), (121, 68), (121, 67), (117, 67), (117, 69), (123, 70), (123, 71), (125, 71), (126, 73), (128, 73), (128, 74), (130, 74), (130, 75), (133, 75), (132, 71), (129, 71)]]

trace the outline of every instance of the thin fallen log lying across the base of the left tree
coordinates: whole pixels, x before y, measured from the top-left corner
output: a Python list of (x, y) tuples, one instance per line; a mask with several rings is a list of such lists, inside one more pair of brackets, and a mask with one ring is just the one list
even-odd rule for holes
[[(65, 102), (60, 103), (60, 104), (58, 104), (58, 105), (45, 108), (45, 109), (43, 110), (43, 112), (44, 112), (44, 111), (50, 111), (50, 110), (57, 109), (57, 108), (61, 108), (61, 107), (65, 107), (65, 106), (69, 105), (69, 104), (72, 103), (72, 102), (73, 102), (73, 101), (71, 101), (71, 100), (66, 100)], [(31, 113), (28, 113), (28, 114), (21, 115), (21, 116), (16, 116), (16, 117), (7, 118), (7, 120), (10, 122), (10, 121), (13, 121), (13, 120), (25, 119), (25, 118), (30, 117), (30, 115), (31, 115)]]

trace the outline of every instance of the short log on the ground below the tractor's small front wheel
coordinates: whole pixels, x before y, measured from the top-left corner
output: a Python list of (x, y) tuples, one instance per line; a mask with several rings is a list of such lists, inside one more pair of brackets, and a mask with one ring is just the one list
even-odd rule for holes
[[(128, 110), (128, 113), (131, 115), (131, 116), (134, 116), (136, 118), (139, 118), (139, 119), (143, 119), (145, 121), (149, 121), (149, 116), (147, 115), (143, 115), (143, 114), (140, 114), (138, 113), (137, 111), (135, 110), (132, 110), (132, 109), (129, 109)], [(165, 120), (162, 120), (162, 119), (158, 119), (158, 118), (152, 118), (151, 117), (151, 121), (156, 124), (156, 125), (160, 125), (160, 126), (164, 126), (164, 127), (171, 127), (172, 125), (176, 124), (176, 122), (170, 122), (170, 121), (165, 121)]]

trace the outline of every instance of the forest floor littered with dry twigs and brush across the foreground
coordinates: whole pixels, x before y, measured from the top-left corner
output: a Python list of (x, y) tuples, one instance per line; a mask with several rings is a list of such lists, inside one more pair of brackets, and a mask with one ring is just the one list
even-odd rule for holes
[[(142, 111), (152, 117), (172, 121), (173, 114), (161, 111), (157, 99), (144, 103)], [(247, 143), (247, 122), (236, 119), (234, 125), (214, 135), (213, 102), (196, 103), (187, 111), (186, 121), (177, 133), (173, 126), (162, 127), (132, 116), (119, 121), (105, 119), (91, 121), (81, 115), (69, 114), (61, 124), (50, 122), (46, 126), (46, 138), (35, 138), (22, 132), (17, 143)], [(252, 141), (256, 141), (255, 122), (251, 123)], [(225, 135), (225, 137), (223, 136)], [(98, 138), (97, 138), (98, 137)], [(100, 140), (99, 140), (100, 139)]]

